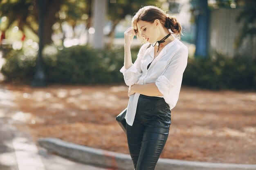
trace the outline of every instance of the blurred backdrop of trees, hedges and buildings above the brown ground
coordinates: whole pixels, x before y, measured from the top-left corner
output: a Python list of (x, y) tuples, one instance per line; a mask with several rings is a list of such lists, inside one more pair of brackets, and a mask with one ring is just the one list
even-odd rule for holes
[[(162, 7), (183, 26), (181, 40), (191, 59), (183, 84), (255, 90), (254, 0), (46, 0), (42, 5), (37, 0), (2, 0), (0, 58), (5, 80), (34, 79), (34, 86), (122, 82), (124, 31), (132, 15), (146, 5)], [(141, 44), (135, 38), (132, 45), (135, 60)]]

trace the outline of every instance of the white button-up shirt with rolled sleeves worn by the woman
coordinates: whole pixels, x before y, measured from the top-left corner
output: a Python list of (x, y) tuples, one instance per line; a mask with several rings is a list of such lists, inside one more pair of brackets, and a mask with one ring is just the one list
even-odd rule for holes
[[(158, 97), (164, 97), (165, 102), (172, 109), (179, 98), (182, 76), (188, 60), (188, 48), (175, 38), (164, 46), (153, 60), (154, 47), (151, 45), (147, 49), (148, 45), (149, 43), (142, 45), (134, 64), (128, 69), (123, 66), (120, 72), (123, 73), (127, 86), (155, 83), (158, 90), (163, 94), (163, 96)], [(147, 69), (150, 62), (152, 63)], [(135, 118), (138, 99), (139, 93), (130, 95), (125, 117), (130, 126), (132, 126)]]

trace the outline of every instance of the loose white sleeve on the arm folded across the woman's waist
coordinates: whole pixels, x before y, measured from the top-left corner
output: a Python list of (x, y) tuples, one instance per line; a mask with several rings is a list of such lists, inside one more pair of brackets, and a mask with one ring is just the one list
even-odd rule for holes
[(183, 47), (171, 59), (166, 71), (155, 82), (166, 103), (175, 107), (180, 93), (183, 73), (188, 60), (188, 49)]

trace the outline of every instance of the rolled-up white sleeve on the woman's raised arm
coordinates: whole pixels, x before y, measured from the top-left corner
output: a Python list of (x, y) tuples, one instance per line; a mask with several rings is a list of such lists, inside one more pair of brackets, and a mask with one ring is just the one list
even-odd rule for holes
[(137, 59), (135, 60), (134, 64), (130, 66), (130, 68), (125, 69), (124, 66), (121, 68), (120, 72), (124, 75), (124, 82), (127, 86), (132, 86), (133, 84), (137, 83), (139, 77), (141, 77), (141, 59), (147, 49), (149, 44), (144, 44), (139, 49), (139, 53), (137, 55)]

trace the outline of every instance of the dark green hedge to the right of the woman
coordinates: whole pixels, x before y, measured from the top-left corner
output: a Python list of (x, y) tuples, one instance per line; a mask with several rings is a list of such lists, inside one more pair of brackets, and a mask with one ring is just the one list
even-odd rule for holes
[(256, 90), (256, 60), (220, 55), (189, 59), (182, 84), (212, 90)]

